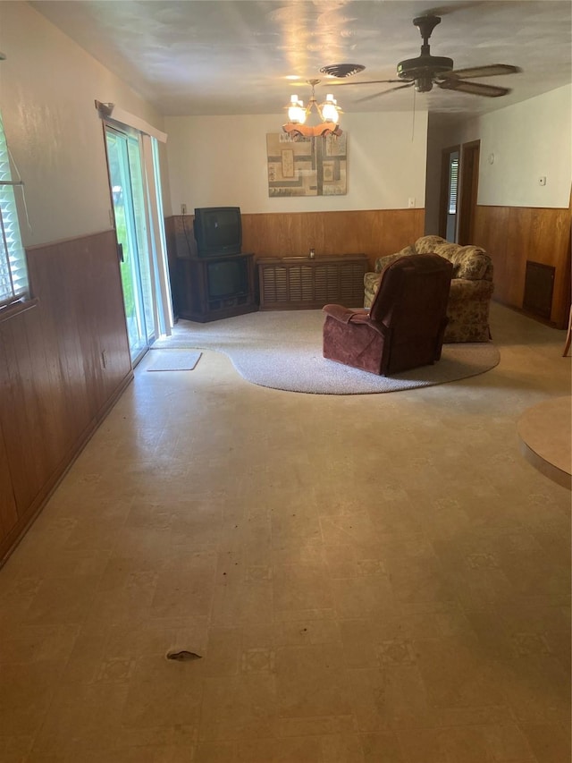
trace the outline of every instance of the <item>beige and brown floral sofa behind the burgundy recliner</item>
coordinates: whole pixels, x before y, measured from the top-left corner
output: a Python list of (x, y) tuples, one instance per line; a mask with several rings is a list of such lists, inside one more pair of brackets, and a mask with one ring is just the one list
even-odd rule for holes
[(379, 285), (383, 268), (400, 257), (411, 254), (435, 254), (453, 263), (453, 280), (450, 282), (445, 342), (488, 342), (489, 305), (492, 296), (492, 259), (478, 246), (460, 246), (442, 239), (441, 236), (422, 236), (415, 244), (395, 254), (375, 260), (373, 273), (366, 273), (364, 307), (371, 306)]

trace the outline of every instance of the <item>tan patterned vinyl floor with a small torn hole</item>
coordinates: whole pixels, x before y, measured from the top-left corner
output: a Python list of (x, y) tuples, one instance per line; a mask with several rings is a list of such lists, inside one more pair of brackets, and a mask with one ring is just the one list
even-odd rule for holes
[(3, 763), (568, 761), (570, 494), (517, 420), (570, 360), (492, 332), (395, 394), (144, 360), (0, 571)]

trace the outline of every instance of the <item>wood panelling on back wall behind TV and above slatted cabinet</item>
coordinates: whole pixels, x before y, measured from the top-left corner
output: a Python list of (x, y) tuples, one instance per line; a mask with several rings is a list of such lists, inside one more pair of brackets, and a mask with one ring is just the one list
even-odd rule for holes
[[(311, 247), (315, 256), (365, 252), (375, 259), (403, 249), (424, 234), (425, 209), (364, 209), (348, 212), (269, 212), (242, 214), (242, 250), (256, 259), (300, 257)], [(195, 242), (193, 217), (167, 220), (169, 261), (189, 257)]]

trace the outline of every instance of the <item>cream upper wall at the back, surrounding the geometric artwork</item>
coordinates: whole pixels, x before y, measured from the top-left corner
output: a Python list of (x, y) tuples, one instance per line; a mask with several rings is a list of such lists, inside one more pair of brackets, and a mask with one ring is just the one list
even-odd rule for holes
[(181, 204), (233, 206), (245, 213), (408, 208), (425, 204), (427, 114), (343, 114), (348, 136), (345, 196), (270, 198), (266, 133), (284, 114), (168, 116), (167, 156), (173, 214)]

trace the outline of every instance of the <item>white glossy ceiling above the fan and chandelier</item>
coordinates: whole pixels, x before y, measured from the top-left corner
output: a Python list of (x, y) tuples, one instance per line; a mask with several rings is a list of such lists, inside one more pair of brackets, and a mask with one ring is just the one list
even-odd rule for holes
[[(162, 114), (280, 114), (307, 80), (316, 97), (341, 82), (394, 78), (396, 65), (419, 55), (413, 19), (437, 13), (431, 53), (455, 68), (515, 64), (521, 73), (483, 82), (509, 87), (485, 98), (433, 88), (416, 108), (478, 114), (559, 88), (571, 81), (569, 0), (454, 0), (435, 6), (408, 0), (41, 0), (31, 5), (127, 81)], [(351, 80), (327, 80), (326, 64), (363, 64)], [(297, 77), (299, 84), (288, 81)], [(391, 85), (341, 87), (346, 112), (400, 111), (413, 89), (364, 103)]]

